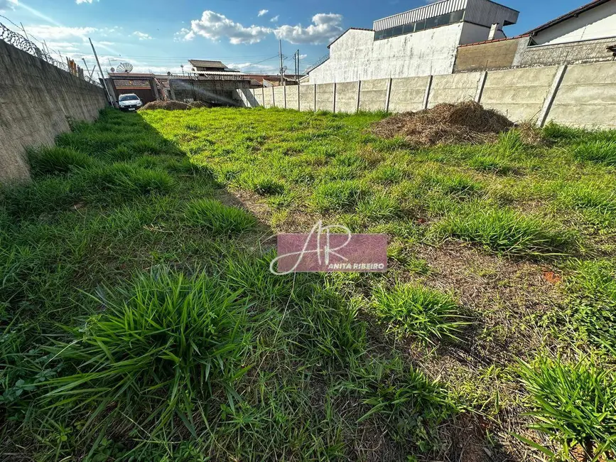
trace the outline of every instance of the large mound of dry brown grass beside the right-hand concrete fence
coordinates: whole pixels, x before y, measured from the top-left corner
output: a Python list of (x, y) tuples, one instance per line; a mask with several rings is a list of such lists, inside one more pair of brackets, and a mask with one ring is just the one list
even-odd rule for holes
[(376, 122), (372, 133), (383, 138), (403, 136), (418, 146), (483, 144), (514, 127), (504, 115), (472, 101), (437, 104), (432, 109), (403, 112)]

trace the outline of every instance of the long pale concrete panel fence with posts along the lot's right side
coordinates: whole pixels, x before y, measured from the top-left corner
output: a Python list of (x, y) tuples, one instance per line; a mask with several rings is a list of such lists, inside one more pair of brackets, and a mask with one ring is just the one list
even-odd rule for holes
[(470, 100), (514, 122), (616, 129), (615, 88), (616, 63), (592, 63), (256, 88), (236, 90), (236, 98), (244, 107), (346, 113), (418, 111)]

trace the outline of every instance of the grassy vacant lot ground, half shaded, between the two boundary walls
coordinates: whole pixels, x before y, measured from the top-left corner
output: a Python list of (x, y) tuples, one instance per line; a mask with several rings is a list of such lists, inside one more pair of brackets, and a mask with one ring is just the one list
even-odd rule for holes
[[(0, 458), (613, 458), (616, 133), (416, 149), (385, 115), (103, 112), (31, 152)], [(270, 274), (321, 217), (389, 272)]]

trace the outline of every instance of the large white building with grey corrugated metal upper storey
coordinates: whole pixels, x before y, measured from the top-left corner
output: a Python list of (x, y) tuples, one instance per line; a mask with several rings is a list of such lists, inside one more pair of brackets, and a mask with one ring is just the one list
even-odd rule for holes
[[(350, 28), (330, 43), (327, 60), (308, 71), (310, 84), (453, 72), (459, 45), (504, 38), (519, 11), (490, 0), (443, 0)], [(306, 82), (303, 80), (303, 82)]]

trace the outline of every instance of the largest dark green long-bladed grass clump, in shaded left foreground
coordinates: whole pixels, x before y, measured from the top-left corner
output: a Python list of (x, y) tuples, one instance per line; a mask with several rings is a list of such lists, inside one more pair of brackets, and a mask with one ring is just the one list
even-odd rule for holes
[(45, 404), (85, 407), (88, 423), (124, 414), (153, 434), (180, 421), (195, 434), (196, 403), (213, 393), (233, 406), (247, 306), (219, 279), (159, 270), (96, 301), (104, 311), (50, 348), (64, 375), (48, 382)]

